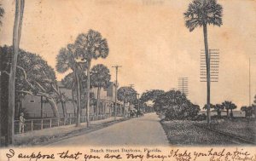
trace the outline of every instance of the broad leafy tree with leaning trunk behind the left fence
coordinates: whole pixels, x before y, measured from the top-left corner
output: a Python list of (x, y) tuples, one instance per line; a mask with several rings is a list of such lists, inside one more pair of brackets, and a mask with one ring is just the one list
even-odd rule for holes
[[(4, 62), (2, 66), (3, 73), (6, 74), (5, 77), (9, 77), (10, 57), (13, 53), (13, 48), (3, 46), (0, 50)], [(55, 117), (59, 117), (54, 98), (58, 88), (55, 83), (54, 69), (39, 55), (26, 52), (23, 49), (20, 49), (19, 53), (15, 81), (16, 95), (44, 96), (52, 106)]]

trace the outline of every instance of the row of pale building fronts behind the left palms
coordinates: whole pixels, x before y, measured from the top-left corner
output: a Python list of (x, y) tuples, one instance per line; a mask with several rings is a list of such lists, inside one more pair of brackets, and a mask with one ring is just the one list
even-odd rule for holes
[[(59, 89), (68, 99), (65, 102), (67, 117), (75, 117), (76, 101), (73, 101), (73, 94), (71, 89), (65, 88), (61, 82), (58, 82)], [(90, 104), (90, 115), (96, 115), (96, 96), (97, 89), (90, 89), (90, 93), (95, 96), (94, 103)], [(85, 100), (82, 100), (86, 102)], [(25, 109), (26, 115), (29, 118), (51, 118), (53, 117), (52, 108), (45, 98), (42, 96), (26, 95), (22, 100), (22, 108)], [(99, 115), (114, 115), (114, 104), (115, 104), (115, 83), (110, 83), (107, 89), (101, 89), (100, 92), (100, 103), (98, 108)], [(60, 117), (63, 117), (63, 110), (61, 102), (56, 102)], [(85, 104), (81, 106), (81, 115), (86, 115)], [(122, 102), (117, 101), (117, 115), (122, 115)]]

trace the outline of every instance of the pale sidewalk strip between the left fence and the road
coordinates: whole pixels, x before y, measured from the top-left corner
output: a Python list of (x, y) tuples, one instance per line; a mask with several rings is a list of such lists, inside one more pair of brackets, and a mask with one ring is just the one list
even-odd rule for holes
[(34, 145), (47, 145), (49, 142), (59, 141), (63, 138), (81, 135), (82, 133), (89, 133), (96, 129), (102, 129), (111, 124), (116, 124), (127, 119), (128, 118), (117, 117), (116, 121), (114, 121), (114, 118), (90, 121), (90, 128), (86, 128), (86, 123), (82, 123), (79, 127), (75, 127), (75, 124), (71, 124), (17, 134), (15, 135), (15, 146), (27, 147)]

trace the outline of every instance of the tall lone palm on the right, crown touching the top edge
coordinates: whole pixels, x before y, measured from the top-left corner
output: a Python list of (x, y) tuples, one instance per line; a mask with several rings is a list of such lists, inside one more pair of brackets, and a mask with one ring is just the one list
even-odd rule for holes
[(216, 0), (194, 0), (189, 4), (189, 9), (184, 13), (185, 26), (189, 32), (193, 32), (195, 27), (202, 26), (204, 33), (205, 54), (207, 64), (207, 123), (210, 123), (210, 94), (211, 94), (211, 75), (210, 75), (210, 56), (208, 53), (207, 24), (213, 26), (222, 25), (223, 8)]

